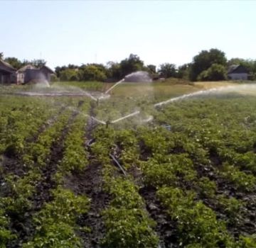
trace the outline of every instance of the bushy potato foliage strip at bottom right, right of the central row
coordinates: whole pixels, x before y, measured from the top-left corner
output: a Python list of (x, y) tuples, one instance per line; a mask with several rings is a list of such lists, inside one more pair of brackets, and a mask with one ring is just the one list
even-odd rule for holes
[(195, 195), (179, 188), (161, 188), (157, 192), (168, 213), (178, 222), (181, 244), (193, 247), (229, 247), (233, 243), (225, 224), (216, 219), (215, 213), (201, 201), (193, 201)]

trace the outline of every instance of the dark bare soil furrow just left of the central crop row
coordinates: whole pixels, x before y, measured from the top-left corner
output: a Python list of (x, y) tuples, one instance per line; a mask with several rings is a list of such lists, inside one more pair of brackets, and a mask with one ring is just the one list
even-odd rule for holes
[[(95, 104), (90, 107), (90, 115), (95, 116)], [(86, 125), (85, 141), (92, 140), (92, 132), (97, 126), (95, 120), (88, 118)], [(85, 142), (86, 143), (86, 142)], [(80, 227), (89, 227), (90, 232), (79, 232), (83, 240), (83, 247), (100, 247), (101, 239), (105, 233), (104, 222), (101, 212), (109, 202), (109, 196), (102, 189), (102, 164), (92, 154), (90, 147), (85, 148), (89, 164), (81, 173), (73, 173), (65, 180), (65, 186), (71, 188), (78, 195), (85, 195), (90, 198), (90, 210), (78, 220)]]

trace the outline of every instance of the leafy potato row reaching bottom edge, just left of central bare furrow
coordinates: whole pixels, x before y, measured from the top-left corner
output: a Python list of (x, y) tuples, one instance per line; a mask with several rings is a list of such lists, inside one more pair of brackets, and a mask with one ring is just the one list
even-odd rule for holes
[(53, 200), (45, 203), (33, 216), (36, 232), (23, 247), (82, 247), (82, 239), (77, 233), (78, 230), (87, 230), (86, 227), (81, 230), (76, 221), (89, 210), (90, 199), (65, 188), (64, 178), (70, 172), (81, 171), (87, 166), (85, 120), (85, 116), (78, 113), (70, 125), (64, 141), (63, 158), (52, 175), (56, 184), (51, 191)]

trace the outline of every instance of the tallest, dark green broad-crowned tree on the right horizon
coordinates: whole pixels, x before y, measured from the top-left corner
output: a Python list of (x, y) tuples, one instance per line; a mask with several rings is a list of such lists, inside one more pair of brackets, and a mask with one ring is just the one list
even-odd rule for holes
[(212, 64), (227, 65), (225, 53), (218, 49), (202, 50), (193, 57), (189, 77), (191, 81), (196, 81), (201, 72), (207, 70)]

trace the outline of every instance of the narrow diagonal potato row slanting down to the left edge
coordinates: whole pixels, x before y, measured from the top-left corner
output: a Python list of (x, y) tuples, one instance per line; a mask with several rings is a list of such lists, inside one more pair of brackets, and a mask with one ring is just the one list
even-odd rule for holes
[(67, 124), (69, 115), (70, 111), (65, 111), (54, 125), (38, 136), (36, 143), (26, 146), (26, 153), (22, 157), (23, 167), (26, 168), (23, 176), (6, 175), (2, 191), (4, 197), (1, 198), (1, 209), (5, 216), (21, 223), (26, 221), (26, 213), (33, 209), (32, 198), (36, 186), (42, 180), (41, 169), (46, 166), (50, 148)]

